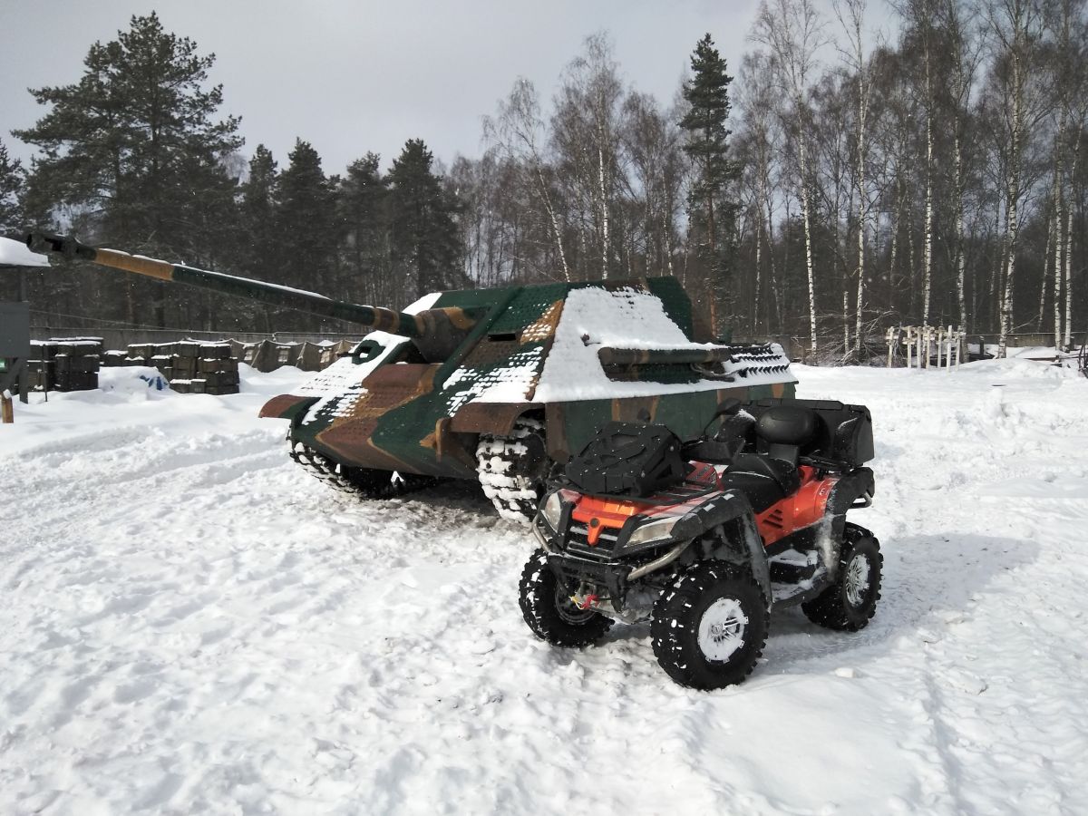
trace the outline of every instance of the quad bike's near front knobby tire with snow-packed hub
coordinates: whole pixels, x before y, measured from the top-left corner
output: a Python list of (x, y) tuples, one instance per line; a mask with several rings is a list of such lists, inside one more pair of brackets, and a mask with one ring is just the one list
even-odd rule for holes
[(654, 655), (666, 673), (692, 689), (743, 682), (767, 642), (769, 610), (747, 571), (697, 561), (654, 604)]

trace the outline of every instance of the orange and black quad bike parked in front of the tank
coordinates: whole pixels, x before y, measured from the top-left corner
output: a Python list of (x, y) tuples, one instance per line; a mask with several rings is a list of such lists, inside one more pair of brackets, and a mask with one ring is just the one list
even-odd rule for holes
[[(529, 628), (584, 646), (620, 620), (651, 619), (676, 682), (742, 682), (772, 609), (801, 604), (857, 631), (880, 597), (876, 536), (846, 521), (873, 500), (873, 424), (830, 400), (724, 401), (714, 436), (610, 422), (568, 462), (533, 520), (521, 576)], [(713, 420), (712, 420), (713, 421)]]

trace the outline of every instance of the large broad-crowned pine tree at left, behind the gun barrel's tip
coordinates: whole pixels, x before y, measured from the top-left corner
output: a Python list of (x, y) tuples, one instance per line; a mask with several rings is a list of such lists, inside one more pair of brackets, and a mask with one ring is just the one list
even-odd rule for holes
[[(223, 98), (222, 86), (206, 87), (214, 59), (165, 32), (152, 12), (133, 16), (118, 39), (91, 46), (77, 83), (32, 90), (52, 107), (34, 127), (14, 132), (42, 150), (27, 181), (38, 220), (66, 207), (78, 213), (85, 239), (191, 255), (207, 237), (193, 231), (210, 198), (221, 202), (233, 184), (223, 160), (243, 141), (237, 119), (214, 121)], [(153, 300), (154, 319), (165, 325), (161, 284), (128, 282), (126, 293), (129, 321), (136, 302)], [(170, 301), (186, 298), (175, 292)], [(107, 293), (107, 302), (87, 306), (106, 317), (113, 299)]]

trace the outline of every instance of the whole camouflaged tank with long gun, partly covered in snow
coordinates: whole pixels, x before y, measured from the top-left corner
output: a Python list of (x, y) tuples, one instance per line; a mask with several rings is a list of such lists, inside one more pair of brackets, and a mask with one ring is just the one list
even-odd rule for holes
[(604, 422), (659, 422), (687, 438), (726, 397), (793, 395), (780, 346), (700, 342), (673, 277), (443, 292), (396, 312), (63, 236), (27, 243), (372, 327), (350, 355), (261, 409), (289, 422), (296, 461), (370, 498), (477, 479), (504, 516), (531, 518), (555, 465)]

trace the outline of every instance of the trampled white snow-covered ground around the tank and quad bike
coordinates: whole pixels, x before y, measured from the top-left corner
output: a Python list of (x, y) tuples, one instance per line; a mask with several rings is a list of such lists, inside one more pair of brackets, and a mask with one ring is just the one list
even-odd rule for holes
[(0, 426), (2, 813), (1086, 813), (1088, 380), (795, 367), (870, 406), (886, 554), (858, 634), (778, 616), (741, 687), (648, 629), (561, 652), (463, 485), (366, 503), (267, 395), (40, 395)]

